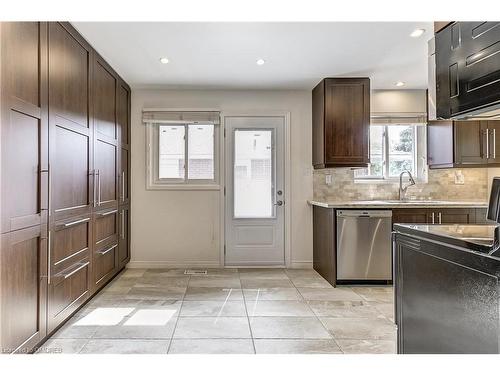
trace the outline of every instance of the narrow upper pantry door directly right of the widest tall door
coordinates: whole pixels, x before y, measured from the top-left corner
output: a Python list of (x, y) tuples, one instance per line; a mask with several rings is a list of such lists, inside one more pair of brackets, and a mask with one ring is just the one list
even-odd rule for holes
[(118, 204), (118, 126), (116, 78), (111, 68), (99, 57), (93, 64), (94, 165), (96, 173), (97, 209)]

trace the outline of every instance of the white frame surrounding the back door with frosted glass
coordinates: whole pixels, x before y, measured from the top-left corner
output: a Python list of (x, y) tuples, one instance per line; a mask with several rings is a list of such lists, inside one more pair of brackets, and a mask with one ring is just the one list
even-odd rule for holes
[[(284, 209), (285, 209), (285, 221), (284, 221), (284, 230), (285, 230), (285, 267), (289, 268), (291, 265), (291, 224), (292, 224), (292, 216), (291, 216), (291, 151), (290, 151), (290, 141), (291, 141), (291, 131), (290, 131), (290, 112), (289, 111), (221, 111), (221, 146), (220, 147), (220, 207), (219, 207), (219, 217), (220, 217), (220, 265), (221, 267), (225, 267), (226, 259), (224, 254), (225, 244), (226, 244), (226, 197), (225, 197), (225, 188), (226, 188), (226, 155), (225, 155), (225, 118), (226, 117), (283, 117), (285, 129), (284, 129), (284, 161), (285, 161), (285, 179), (284, 179)], [(262, 266), (263, 267), (263, 266)], [(266, 266), (267, 267), (267, 266)], [(271, 266), (273, 267), (273, 266)], [(274, 266), (276, 268), (283, 268), (283, 266)], [(255, 266), (252, 266), (255, 268)]]

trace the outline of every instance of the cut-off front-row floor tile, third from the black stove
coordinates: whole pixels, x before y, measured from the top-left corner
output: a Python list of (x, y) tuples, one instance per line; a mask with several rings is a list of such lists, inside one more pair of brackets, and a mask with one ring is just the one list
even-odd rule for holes
[(250, 339), (173, 339), (169, 354), (253, 354)]

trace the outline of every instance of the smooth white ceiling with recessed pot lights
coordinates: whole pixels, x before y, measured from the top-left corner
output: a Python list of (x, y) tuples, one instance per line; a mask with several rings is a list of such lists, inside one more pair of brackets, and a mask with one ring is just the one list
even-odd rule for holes
[[(369, 76), (375, 89), (425, 88), (432, 33), (430, 22), (73, 25), (132, 87), (172, 88), (311, 89), (337, 76)], [(427, 31), (411, 38), (416, 28)]]

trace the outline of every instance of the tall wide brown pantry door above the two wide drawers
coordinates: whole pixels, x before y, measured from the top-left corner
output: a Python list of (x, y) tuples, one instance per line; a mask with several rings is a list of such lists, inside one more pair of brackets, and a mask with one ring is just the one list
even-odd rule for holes
[(49, 126), (53, 220), (90, 214), (93, 201), (90, 46), (49, 24)]

